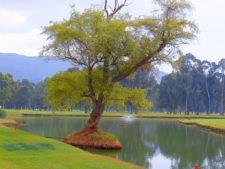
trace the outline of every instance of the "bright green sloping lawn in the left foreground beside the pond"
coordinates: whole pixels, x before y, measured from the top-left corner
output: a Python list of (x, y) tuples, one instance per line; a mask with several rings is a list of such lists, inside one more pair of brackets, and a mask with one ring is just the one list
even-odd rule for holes
[(1, 169), (140, 169), (70, 145), (0, 127)]

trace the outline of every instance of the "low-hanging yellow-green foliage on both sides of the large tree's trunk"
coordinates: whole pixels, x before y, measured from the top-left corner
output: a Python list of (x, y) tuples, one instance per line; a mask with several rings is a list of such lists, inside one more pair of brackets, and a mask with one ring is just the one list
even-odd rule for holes
[[(85, 71), (62, 72), (46, 80), (47, 97), (49, 103), (59, 110), (72, 107), (81, 102), (88, 103), (91, 106), (91, 99), (83, 97), (87, 89), (87, 75)], [(94, 71), (93, 84), (96, 93), (104, 89), (101, 77), (98, 71)], [(146, 92), (143, 89), (131, 89), (115, 84), (107, 94), (105, 104), (108, 107), (116, 106), (118, 109), (124, 109), (125, 104), (129, 102), (137, 111), (149, 110), (151, 103), (146, 99)]]

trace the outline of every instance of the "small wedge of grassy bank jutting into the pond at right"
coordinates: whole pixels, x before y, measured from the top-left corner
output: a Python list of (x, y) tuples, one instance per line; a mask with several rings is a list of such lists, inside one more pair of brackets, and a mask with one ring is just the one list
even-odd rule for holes
[(179, 122), (186, 125), (195, 125), (216, 133), (225, 134), (225, 119), (191, 119), (180, 120)]

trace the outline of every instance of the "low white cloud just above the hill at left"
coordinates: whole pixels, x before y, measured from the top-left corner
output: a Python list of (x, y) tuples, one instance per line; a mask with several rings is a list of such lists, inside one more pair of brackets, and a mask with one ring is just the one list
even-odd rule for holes
[(45, 42), (45, 38), (40, 33), (40, 29), (32, 29), (25, 33), (0, 33), (0, 52), (38, 55), (39, 49)]

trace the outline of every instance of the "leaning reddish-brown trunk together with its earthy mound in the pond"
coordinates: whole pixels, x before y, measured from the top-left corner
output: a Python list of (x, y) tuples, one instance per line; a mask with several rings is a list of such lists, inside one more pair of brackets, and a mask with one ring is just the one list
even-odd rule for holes
[[(99, 121), (105, 108), (105, 98), (100, 94), (94, 104), (86, 127), (64, 138), (64, 142), (81, 148), (121, 149), (121, 143), (112, 134), (100, 131)], [(112, 139), (113, 138), (113, 139)]]

